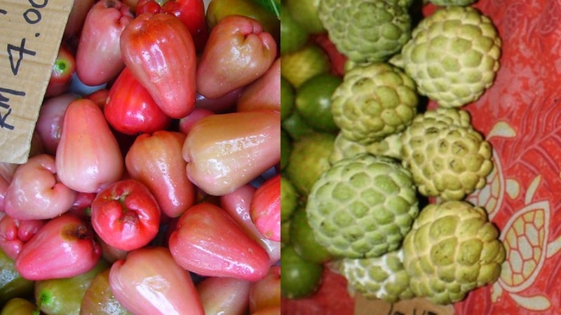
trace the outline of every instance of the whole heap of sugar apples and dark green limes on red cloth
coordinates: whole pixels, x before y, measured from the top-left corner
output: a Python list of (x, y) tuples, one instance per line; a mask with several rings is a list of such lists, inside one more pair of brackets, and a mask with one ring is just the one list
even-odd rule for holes
[[(294, 34), (280, 55), (283, 314), (325, 314), (326, 269), (351, 297), (386, 302), (453, 304), (499, 279), (500, 230), (467, 200), (493, 148), (463, 106), (494, 83), (502, 41), (472, 3), (280, 4)], [(339, 84), (306, 89), (325, 76)]]

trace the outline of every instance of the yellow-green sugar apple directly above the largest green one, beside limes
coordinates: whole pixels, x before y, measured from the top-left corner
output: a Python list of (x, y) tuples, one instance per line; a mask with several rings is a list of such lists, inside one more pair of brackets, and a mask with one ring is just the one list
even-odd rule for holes
[(343, 137), (360, 144), (404, 130), (419, 105), (412, 78), (386, 62), (354, 66), (331, 99), (333, 120)]

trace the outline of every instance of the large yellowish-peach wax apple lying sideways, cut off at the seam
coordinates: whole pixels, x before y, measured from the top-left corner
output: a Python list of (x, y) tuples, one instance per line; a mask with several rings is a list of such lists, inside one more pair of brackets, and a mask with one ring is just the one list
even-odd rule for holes
[(209, 195), (226, 195), (280, 161), (280, 112), (215, 114), (199, 120), (183, 144), (187, 176)]

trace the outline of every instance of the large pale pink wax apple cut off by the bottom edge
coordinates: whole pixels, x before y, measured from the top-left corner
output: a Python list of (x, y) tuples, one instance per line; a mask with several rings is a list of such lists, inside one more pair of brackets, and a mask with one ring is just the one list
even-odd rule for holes
[(205, 314), (191, 276), (165, 247), (139, 248), (114, 262), (109, 286), (133, 314)]

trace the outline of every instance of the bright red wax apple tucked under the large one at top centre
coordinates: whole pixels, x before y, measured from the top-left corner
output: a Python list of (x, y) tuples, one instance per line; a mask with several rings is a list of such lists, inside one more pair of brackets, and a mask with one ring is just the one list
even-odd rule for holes
[(103, 113), (109, 125), (123, 134), (164, 130), (171, 122), (127, 67), (111, 85)]

